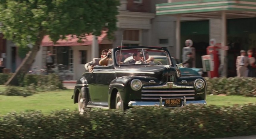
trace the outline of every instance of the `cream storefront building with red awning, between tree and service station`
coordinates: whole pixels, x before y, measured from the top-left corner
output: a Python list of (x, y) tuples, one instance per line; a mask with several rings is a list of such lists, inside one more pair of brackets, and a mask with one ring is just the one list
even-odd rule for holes
[(117, 16), (118, 30), (115, 31), (115, 39), (112, 41), (107, 40), (106, 33), (98, 37), (89, 35), (82, 44), (77, 43), (75, 38), (68, 39), (69, 41), (59, 40), (57, 44), (53, 44), (49, 37), (45, 36), (33, 67), (45, 66), (46, 52), (51, 51), (54, 55), (54, 63), (68, 65), (73, 73), (73, 80), (77, 80), (85, 72), (84, 65), (93, 58), (100, 57), (104, 49), (121, 45), (129, 47), (150, 45), (151, 20), (155, 17), (150, 5), (149, 0), (121, 0)]

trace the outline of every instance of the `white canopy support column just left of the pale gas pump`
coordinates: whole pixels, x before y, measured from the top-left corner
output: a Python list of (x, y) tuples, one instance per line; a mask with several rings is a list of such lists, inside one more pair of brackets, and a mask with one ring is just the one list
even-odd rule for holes
[(177, 16), (176, 19), (176, 58), (177, 59), (181, 59), (180, 58), (180, 16)]

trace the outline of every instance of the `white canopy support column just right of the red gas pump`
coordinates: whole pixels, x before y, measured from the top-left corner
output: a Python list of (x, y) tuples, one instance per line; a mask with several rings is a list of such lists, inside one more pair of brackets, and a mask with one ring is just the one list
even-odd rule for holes
[[(221, 12), (221, 45), (227, 45), (227, 19), (225, 11)], [(223, 65), (222, 77), (227, 77), (227, 62), (225, 58), (227, 56), (226, 50), (221, 50), (221, 65)]]

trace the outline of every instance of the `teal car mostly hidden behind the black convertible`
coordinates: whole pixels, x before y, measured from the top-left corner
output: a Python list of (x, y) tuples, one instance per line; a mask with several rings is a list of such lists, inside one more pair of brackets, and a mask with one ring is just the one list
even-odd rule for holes
[[(158, 61), (163, 61), (162, 63), (163, 64), (166, 64), (166, 63), (164, 63), (166, 60), (166, 56), (155, 56), (155, 55), (152, 55), (152, 56), (149, 56), (149, 58), (151, 58), (151, 57), (153, 57), (154, 59), (157, 59)], [(129, 60), (131, 60), (131, 59), (133, 59), (133, 57), (132, 56), (130, 56), (130, 57), (128, 57), (128, 58), (126, 58), (125, 60), (124, 60), (124, 62), (127, 62), (127, 61), (129, 61)], [(171, 60), (173, 61), (173, 65), (175, 66), (175, 67), (177, 67), (176, 65), (179, 63), (178, 61), (177, 61), (177, 59), (176, 58), (174, 58), (174, 57), (171, 57)], [(196, 76), (202, 76), (202, 74), (203, 74), (203, 70), (202, 69), (199, 69), (199, 68), (188, 68), (188, 67), (184, 67), (184, 66), (182, 66), (181, 65), (181, 67), (178, 67), (179, 68), (179, 70), (181, 71), (181, 75), (196, 75)]]

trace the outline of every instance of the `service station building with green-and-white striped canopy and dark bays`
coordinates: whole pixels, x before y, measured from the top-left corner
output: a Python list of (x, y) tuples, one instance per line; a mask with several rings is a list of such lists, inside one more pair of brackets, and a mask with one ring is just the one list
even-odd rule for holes
[[(181, 59), (187, 39), (193, 40), (196, 49), (196, 67), (202, 68), (201, 56), (206, 54), (209, 40), (215, 39), (229, 50), (220, 50), (223, 76), (236, 76), (235, 60), (240, 50), (252, 49), (255, 53), (256, 1), (243, 0), (168, 0), (156, 5), (156, 17), (174, 19), (175, 52)], [(172, 18), (171, 18), (172, 17)]]

